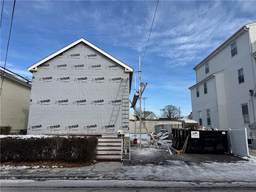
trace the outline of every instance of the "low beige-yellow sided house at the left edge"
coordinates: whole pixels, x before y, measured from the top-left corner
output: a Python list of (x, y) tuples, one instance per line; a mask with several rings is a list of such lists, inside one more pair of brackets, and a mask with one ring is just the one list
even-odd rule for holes
[(3, 67), (0, 69), (0, 126), (9, 125), (10, 133), (17, 134), (28, 127), (31, 82)]

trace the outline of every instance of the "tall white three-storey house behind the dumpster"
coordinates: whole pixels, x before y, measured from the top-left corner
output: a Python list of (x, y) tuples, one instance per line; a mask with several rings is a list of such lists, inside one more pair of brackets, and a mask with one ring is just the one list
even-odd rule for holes
[[(193, 119), (217, 129), (247, 128), (256, 148), (256, 22), (242, 26), (194, 70), (191, 90)], [(252, 90), (254, 96), (250, 96)], [(253, 105), (254, 103), (254, 105)]]

